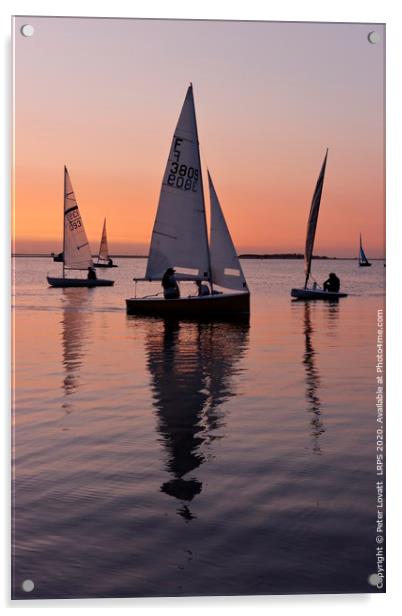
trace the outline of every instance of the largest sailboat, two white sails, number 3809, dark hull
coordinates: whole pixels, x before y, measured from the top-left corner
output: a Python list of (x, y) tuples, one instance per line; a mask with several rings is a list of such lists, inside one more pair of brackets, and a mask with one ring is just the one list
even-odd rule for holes
[[(208, 172), (211, 228), (208, 240), (193, 87), (190, 84), (173, 135), (144, 281), (161, 281), (168, 268), (177, 281), (210, 284), (209, 295), (166, 299), (159, 294), (126, 300), (128, 314), (235, 316), (250, 311), (250, 293)], [(224, 291), (217, 291), (218, 286)]]

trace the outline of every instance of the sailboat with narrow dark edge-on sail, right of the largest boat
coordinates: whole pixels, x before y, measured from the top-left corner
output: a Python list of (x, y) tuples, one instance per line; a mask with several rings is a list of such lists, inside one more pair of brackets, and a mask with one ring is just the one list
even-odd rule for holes
[(292, 297), (298, 299), (326, 299), (334, 300), (340, 297), (347, 297), (347, 293), (335, 293), (333, 291), (324, 291), (320, 289), (317, 283), (313, 284), (313, 287), (308, 287), (308, 282), (311, 276), (311, 260), (313, 258), (313, 248), (315, 232), (317, 229), (318, 213), (320, 211), (321, 195), (324, 186), (325, 170), (327, 166), (328, 149), (325, 153), (324, 162), (322, 163), (320, 175), (318, 176), (317, 184), (313, 194), (313, 200), (311, 202), (310, 215), (307, 223), (306, 244), (304, 248), (304, 271), (305, 282), (304, 288), (292, 289), (290, 294)]

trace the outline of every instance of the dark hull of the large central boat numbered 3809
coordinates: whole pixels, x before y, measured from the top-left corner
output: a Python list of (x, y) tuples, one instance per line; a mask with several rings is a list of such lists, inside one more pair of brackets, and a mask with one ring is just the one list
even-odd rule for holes
[(126, 299), (127, 314), (172, 316), (186, 318), (233, 318), (250, 313), (249, 293), (217, 293), (203, 297), (178, 299), (131, 298)]

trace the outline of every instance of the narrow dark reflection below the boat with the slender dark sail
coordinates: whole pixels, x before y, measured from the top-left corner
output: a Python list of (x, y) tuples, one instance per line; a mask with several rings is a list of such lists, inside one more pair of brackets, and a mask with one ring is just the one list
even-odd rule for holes
[(304, 355), (303, 364), (306, 372), (306, 400), (308, 410), (312, 414), (311, 417), (311, 436), (313, 440), (313, 452), (321, 453), (319, 439), (321, 434), (325, 432), (324, 424), (321, 417), (321, 401), (319, 397), (319, 388), (321, 385), (320, 375), (318, 373), (315, 357), (316, 352), (313, 347), (312, 336), (314, 329), (311, 321), (311, 305), (310, 302), (304, 302)]

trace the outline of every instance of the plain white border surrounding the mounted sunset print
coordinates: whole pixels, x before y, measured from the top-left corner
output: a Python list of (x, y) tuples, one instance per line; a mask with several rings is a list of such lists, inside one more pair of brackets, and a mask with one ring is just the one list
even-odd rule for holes
[[(154, 18), (193, 18), (193, 19), (259, 19), (275, 21), (327, 21), (327, 22), (367, 22), (386, 23), (387, 26), (387, 594), (381, 595), (298, 595), (298, 596), (266, 596), (266, 597), (202, 597), (183, 599), (78, 599), (78, 600), (36, 600), (13, 601), (10, 597), (10, 167), (11, 167), (11, 15), (52, 15), (52, 16), (87, 16), (87, 17), (154, 17)], [(0, 186), (2, 190), (2, 242), (0, 243), (2, 264), (2, 290), (0, 302), (0, 335), (2, 345), (1, 391), (3, 393), (3, 430), (2, 430), (2, 461), (4, 469), (1, 473), (2, 507), (1, 530), (3, 545), (3, 558), (0, 561), (1, 603), (6, 609), (19, 612), (25, 609), (51, 608), (74, 609), (74, 614), (81, 614), (83, 610), (107, 609), (108, 611), (120, 609), (135, 609), (136, 613), (164, 613), (174, 614), (191, 610), (192, 616), (214, 610), (223, 614), (240, 614), (250, 610), (256, 614), (266, 613), (267, 610), (281, 611), (289, 614), (297, 610), (303, 616), (320, 613), (325, 609), (327, 614), (336, 613), (343, 609), (351, 609), (356, 614), (365, 616), (375, 614), (378, 616), (390, 608), (390, 603), (396, 604), (399, 591), (399, 571), (401, 533), (399, 521), (401, 519), (401, 499), (399, 496), (400, 472), (397, 456), (400, 449), (401, 420), (398, 415), (402, 410), (401, 392), (398, 391), (401, 370), (398, 362), (398, 339), (396, 333), (400, 327), (397, 318), (401, 313), (401, 281), (397, 272), (397, 263), (401, 259), (400, 240), (398, 244), (398, 230), (402, 229), (402, 198), (401, 198), (401, 160), (398, 152), (402, 146), (402, 110), (401, 95), (401, 58), (402, 36), (400, 29), (402, 9), (399, 3), (393, 0), (383, 0), (381, 3), (372, 0), (337, 0), (337, 2), (323, 2), (322, 0), (282, 0), (279, 3), (261, 2), (261, 0), (247, 0), (239, 2), (233, 0), (218, 3), (213, 0), (204, 0), (202, 3), (193, 3), (181, 0), (163, 2), (154, 0), (152, 4), (145, 4), (136, 0), (51, 0), (11, 1), (3, 0), (0, 5), (0, 36), (2, 43), (1, 70), (1, 141), (0, 149)], [(4, 87), (5, 84), (5, 87)], [(392, 282), (391, 282), (392, 281)]]

